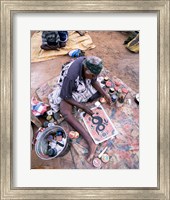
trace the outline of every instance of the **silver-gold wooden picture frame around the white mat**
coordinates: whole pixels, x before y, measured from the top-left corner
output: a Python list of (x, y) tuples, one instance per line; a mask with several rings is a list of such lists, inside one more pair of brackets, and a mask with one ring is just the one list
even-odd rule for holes
[[(170, 199), (169, 0), (6, 1), (1, 0), (1, 199)], [(15, 188), (13, 186), (13, 35), (15, 13), (154, 12), (158, 18), (158, 186), (155, 188)], [(147, 178), (147, 177), (146, 177)]]

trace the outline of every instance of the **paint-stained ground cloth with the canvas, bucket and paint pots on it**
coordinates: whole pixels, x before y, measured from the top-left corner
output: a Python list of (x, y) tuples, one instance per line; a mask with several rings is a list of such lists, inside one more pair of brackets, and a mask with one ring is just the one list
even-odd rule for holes
[[(136, 93), (117, 77), (109, 77), (103, 70), (99, 77), (112, 104), (98, 98), (88, 107), (90, 116), (83, 110), (73, 109), (75, 117), (88, 130), (97, 149), (94, 158), (87, 162), (88, 146), (82, 136), (63, 120), (60, 113), (53, 113), (47, 96), (55, 89), (57, 78), (49, 80), (36, 90), (40, 99), (32, 99), (32, 106), (42, 117), (32, 118), (38, 128), (34, 130), (32, 169), (138, 169), (139, 168), (139, 102)], [(45, 109), (45, 110), (43, 110)], [(36, 110), (36, 109), (35, 109)], [(34, 111), (35, 111), (34, 110)], [(34, 113), (36, 115), (36, 113)]]

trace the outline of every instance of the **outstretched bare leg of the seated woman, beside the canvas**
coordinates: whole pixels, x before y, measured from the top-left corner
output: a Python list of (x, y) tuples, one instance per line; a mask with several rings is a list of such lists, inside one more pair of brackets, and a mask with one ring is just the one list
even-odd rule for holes
[(62, 100), (60, 103), (60, 112), (63, 115), (64, 119), (76, 130), (78, 131), (82, 137), (86, 140), (89, 146), (89, 154), (87, 160), (90, 161), (94, 153), (96, 151), (97, 145), (93, 142), (89, 133), (85, 130), (85, 128), (81, 125), (81, 123), (74, 117), (72, 114), (72, 105)]

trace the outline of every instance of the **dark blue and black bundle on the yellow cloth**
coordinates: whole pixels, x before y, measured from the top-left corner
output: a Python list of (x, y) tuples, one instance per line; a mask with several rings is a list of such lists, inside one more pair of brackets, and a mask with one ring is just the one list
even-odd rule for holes
[(67, 31), (43, 31), (41, 49), (58, 50), (66, 46), (67, 40)]

